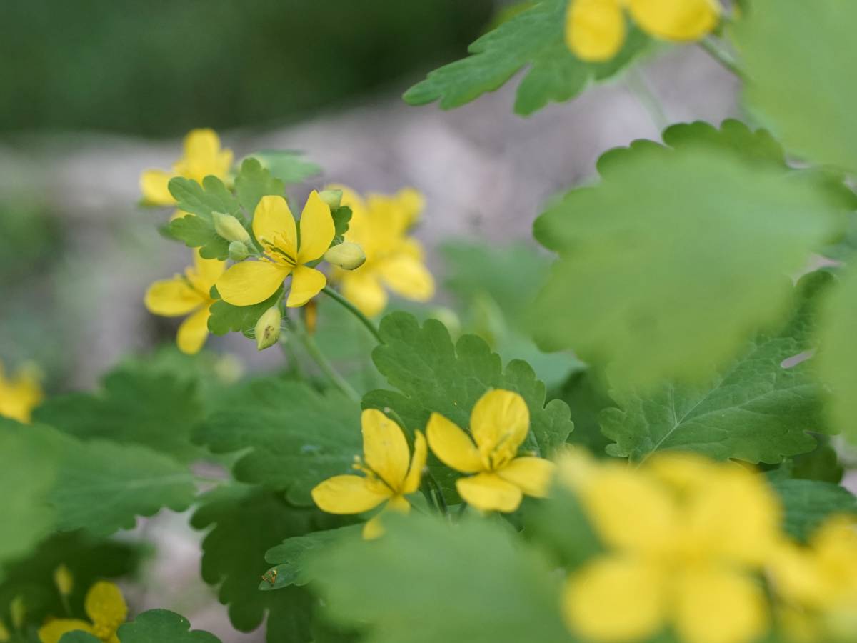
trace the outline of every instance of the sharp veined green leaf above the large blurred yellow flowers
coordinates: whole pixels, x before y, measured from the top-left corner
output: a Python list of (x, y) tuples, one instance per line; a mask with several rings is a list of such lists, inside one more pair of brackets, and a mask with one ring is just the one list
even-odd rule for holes
[(815, 297), (830, 275), (800, 284), (800, 305), (777, 333), (758, 334), (709, 382), (668, 382), (649, 393), (611, 392), (618, 408), (601, 413), (608, 454), (642, 461), (658, 451), (695, 451), (718, 460), (777, 463), (815, 448), (807, 431), (824, 431), (812, 360), (783, 362), (812, 348)]

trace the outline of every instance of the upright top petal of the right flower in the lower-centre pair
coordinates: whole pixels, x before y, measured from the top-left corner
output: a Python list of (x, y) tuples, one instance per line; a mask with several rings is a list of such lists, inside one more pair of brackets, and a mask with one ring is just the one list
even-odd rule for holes
[(506, 464), (518, 453), (530, 430), (530, 409), (517, 393), (501, 388), (488, 391), (470, 413), (470, 432), (482, 454)]

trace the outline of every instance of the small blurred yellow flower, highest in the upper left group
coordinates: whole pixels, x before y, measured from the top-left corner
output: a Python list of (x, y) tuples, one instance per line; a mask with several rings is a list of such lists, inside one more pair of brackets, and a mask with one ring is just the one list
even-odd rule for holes
[(184, 155), (172, 166), (172, 171), (147, 170), (141, 174), (143, 201), (156, 206), (176, 202), (167, 184), (172, 177), (189, 178), (197, 183), (208, 175), (223, 180), (232, 165), (232, 150), (221, 149), (220, 139), (213, 129), (191, 129), (184, 137)]

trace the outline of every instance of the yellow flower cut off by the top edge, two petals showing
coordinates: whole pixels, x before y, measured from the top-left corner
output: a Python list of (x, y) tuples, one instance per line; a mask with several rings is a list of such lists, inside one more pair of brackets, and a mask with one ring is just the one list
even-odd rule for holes
[(566, 44), (583, 60), (614, 57), (625, 42), (625, 10), (656, 38), (686, 42), (709, 33), (720, 19), (717, 0), (572, 0)]

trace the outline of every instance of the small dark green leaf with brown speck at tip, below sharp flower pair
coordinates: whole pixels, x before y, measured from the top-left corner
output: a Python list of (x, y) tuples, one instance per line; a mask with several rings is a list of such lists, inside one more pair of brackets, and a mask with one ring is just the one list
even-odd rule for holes
[(263, 576), (259, 589), (264, 591), (288, 586), (304, 586), (313, 580), (307, 562), (310, 556), (318, 555), (345, 538), (362, 538), (360, 525), (349, 525), (325, 532), (311, 532), (305, 536), (286, 538), (276, 547), (267, 550), (265, 560), (275, 567)]

